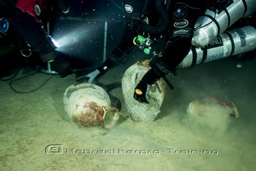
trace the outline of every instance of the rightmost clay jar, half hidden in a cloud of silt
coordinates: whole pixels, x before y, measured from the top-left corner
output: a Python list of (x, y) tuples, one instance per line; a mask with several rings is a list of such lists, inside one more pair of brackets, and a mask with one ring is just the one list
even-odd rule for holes
[(236, 105), (216, 96), (202, 96), (189, 103), (187, 107), (187, 123), (197, 130), (210, 130), (218, 133), (226, 132), (232, 117), (238, 118)]

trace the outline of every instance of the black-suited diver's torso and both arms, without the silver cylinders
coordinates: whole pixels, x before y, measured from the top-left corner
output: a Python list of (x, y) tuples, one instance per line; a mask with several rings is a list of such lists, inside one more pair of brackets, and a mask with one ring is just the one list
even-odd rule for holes
[[(127, 18), (131, 21), (121, 42), (104, 64), (86, 77), (91, 82), (95, 77), (122, 63), (124, 56), (135, 44), (145, 53), (154, 51), (156, 53), (151, 59), (151, 69), (135, 88), (135, 99), (148, 102), (147, 92), (151, 85), (160, 77), (174, 73), (176, 66), (187, 56), (195, 22), (205, 12), (209, 1), (172, 0), (164, 3), (162, 0), (126, 0), (124, 4)], [(146, 43), (140, 45), (140, 42)]]

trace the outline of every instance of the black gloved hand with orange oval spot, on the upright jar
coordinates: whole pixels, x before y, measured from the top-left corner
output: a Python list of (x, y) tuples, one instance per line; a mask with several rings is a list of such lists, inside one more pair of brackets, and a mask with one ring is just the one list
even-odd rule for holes
[(148, 92), (150, 91), (151, 86), (148, 85), (145, 81), (141, 80), (140, 83), (135, 87), (134, 98), (139, 102), (148, 102)]

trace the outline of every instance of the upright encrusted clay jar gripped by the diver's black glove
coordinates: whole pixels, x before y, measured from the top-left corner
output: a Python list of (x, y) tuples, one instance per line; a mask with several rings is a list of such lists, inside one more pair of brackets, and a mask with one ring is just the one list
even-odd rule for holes
[(138, 61), (127, 69), (122, 78), (122, 91), (127, 110), (133, 121), (143, 123), (150, 123), (157, 118), (165, 97), (165, 80), (161, 78), (151, 86), (148, 93), (149, 103), (134, 99), (135, 87), (150, 69), (148, 63), (149, 60)]

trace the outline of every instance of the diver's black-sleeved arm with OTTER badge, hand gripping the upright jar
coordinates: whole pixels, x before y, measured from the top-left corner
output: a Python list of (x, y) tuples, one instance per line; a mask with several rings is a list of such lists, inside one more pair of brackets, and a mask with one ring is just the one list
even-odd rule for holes
[(187, 56), (191, 46), (192, 33), (197, 18), (205, 11), (207, 1), (173, 0), (170, 7), (170, 43), (165, 47), (161, 58), (151, 62), (151, 69), (146, 72), (135, 87), (134, 97), (139, 102), (148, 103), (148, 91), (160, 77), (175, 72), (176, 66)]

